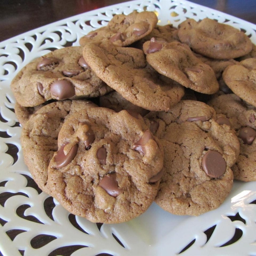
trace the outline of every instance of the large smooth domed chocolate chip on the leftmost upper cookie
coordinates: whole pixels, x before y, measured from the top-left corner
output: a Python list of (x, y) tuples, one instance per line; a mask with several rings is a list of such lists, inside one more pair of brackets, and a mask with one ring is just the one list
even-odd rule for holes
[(75, 95), (75, 88), (68, 80), (58, 80), (51, 84), (50, 92), (53, 99), (69, 99)]

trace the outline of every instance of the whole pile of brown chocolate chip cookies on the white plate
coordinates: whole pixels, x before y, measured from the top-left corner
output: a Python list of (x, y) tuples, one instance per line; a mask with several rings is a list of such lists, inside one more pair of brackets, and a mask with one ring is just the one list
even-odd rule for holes
[(208, 18), (154, 12), (107, 26), (13, 79), (26, 165), (73, 214), (120, 223), (155, 201), (172, 214), (219, 207), (256, 180), (256, 47)]

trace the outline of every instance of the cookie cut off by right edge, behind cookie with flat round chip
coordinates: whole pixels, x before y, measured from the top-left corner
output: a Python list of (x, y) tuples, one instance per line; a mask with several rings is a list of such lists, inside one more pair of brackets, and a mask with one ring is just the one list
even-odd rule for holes
[(242, 181), (256, 180), (256, 108), (246, 104), (235, 94), (218, 96), (208, 104), (219, 115), (227, 117), (239, 138), (240, 154), (232, 167), (234, 178)]

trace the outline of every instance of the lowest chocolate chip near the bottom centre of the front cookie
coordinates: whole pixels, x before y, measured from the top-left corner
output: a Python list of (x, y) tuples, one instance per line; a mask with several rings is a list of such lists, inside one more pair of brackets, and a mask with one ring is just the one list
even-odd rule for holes
[(110, 173), (105, 175), (99, 182), (99, 186), (102, 187), (109, 195), (116, 197), (122, 194), (123, 189), (118, 187), (116, 180), (116, 173)]

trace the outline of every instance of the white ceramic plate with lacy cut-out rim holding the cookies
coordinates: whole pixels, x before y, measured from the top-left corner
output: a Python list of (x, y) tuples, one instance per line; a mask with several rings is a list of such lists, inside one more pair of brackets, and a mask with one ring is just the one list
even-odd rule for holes
[[(133, 10), (155, 11), (161, 25), (172, 23), (175, 27), (186, 18), (209, 17), (242, 29), (256, 43), (254, 24), (183, 0), (126, 2), (70, 17), (0, 43), (0, 135), (7, 137), (0, 137), (0, 196), (8, 195), (0, 205), (0, 252), (4, 256), (47, 256), (52, 251), (55, 253), (50, 255), (58, 255), (58, 248), (70, 246), (72, 256), (256, 255), (255, 182), (235, 182), (221, 207), (198, 217), (175, 216), (152, 204), (134, 220), (103, 224), (100, 229), (84, 218), (70, 215), (57, 201), (32, 188), (20, 146), (21, 128), (15, 126), (17, 118), (10, 110), (15, 102), (10, 82), (32, 59), (52, 49), (77, 46), (82, 35), (105, 26), (114, 14), (129, 14)], [(15, 163), (8, 146), (17, 148)], [(45, 212), (45, 204), (52, 205), (52, 212)], [(19, 234), (14, 237), (12, 230)], [(42, 236), (48, 244), (40, 244)]]

